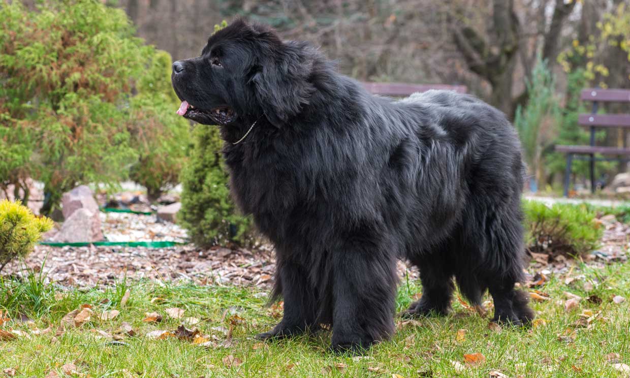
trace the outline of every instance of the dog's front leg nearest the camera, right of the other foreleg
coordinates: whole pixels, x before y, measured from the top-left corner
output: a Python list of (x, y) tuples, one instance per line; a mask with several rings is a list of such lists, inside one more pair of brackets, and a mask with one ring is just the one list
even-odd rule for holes
[(387, 248), (353, 243), (333, 256), (333, 337), (336, 352), (360, 353), (394, 333), (396, 258)]

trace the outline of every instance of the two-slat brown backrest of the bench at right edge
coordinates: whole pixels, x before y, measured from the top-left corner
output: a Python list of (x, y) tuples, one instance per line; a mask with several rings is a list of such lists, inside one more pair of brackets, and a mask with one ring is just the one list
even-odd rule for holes
[(583, 89), (581, 100), (593, 101), (590, 114), (580, 114), (578, 123), (583, 126), (630, 128), (630, 114), (597, 114), (599, 102), (630, 103), (630, 89)]

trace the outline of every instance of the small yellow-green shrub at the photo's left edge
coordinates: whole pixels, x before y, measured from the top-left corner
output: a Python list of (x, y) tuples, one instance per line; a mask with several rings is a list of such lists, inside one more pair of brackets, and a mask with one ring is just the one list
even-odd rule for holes
[(35, 217), (20, 201), (0, 200), (0, 271), (10, 261), (26, 257), (53, 225), (46, 217)]

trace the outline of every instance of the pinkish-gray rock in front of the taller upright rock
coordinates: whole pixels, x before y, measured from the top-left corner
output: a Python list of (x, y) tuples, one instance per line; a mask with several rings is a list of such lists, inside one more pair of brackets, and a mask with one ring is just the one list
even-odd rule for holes
[(103, 240), (101, 219), (98, 213), (88, 209), (78, 209), (61, 225), (61, 229), (52, 238), (59, 243), (81, 243)]

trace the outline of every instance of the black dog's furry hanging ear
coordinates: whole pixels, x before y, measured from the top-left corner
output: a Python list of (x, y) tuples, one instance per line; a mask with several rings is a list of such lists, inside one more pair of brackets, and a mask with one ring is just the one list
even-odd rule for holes
[(280, 127), (297, 115), (314, 92), (308, 78), (312, 71), (309, 47), (284, 43), (272, 30), (259, 31), (261, 56), (255, 64), (251, 83), (265, 117)]

